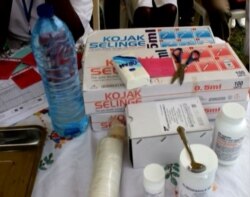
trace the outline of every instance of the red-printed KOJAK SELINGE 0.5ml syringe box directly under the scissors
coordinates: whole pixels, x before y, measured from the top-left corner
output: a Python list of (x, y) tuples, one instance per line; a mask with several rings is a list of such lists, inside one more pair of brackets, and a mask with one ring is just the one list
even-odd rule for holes
[[(111, 37), (112, 33), (114, 34), (113, 31), (109, 33), (111, 33)], [(147, 65), (153, 76), (151, 76), (149, 86), (126, 90), (111, 61), (113, 56), (124, 53), (125, 49), (105, 51), (92, 48), (90, 50), (87, 47), (83, 78), (86, 113), (123, 111), (124, 107), (131, 103), (187, 96), (199, 96), (203, 104), (245, 100), (243, 97), (247, 95), (249, 88), (249, 73), (229, 44), (182, 48), (184, 51), (183, 62), (192, 50), (200, 51), (201, 58), (187, 67), (184, 83), (181, 86), (178, 82), (170, 83), (177, 68), (171, 57), (171, 51), (174, 48), (127, 48), (140, 61), (144, 62), (143, 65), (153, 65), (153, 67)], [(158, 71), (152, 70), (156, 67), (158, 67)], [(240, 98), (232, 99), (235, 94), (239, 94)]]

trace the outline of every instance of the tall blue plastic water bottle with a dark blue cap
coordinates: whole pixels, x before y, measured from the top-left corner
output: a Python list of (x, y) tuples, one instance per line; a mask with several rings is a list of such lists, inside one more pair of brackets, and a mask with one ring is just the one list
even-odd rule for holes
[(42, 77), (53, 128), (71, 138), (86, 131), (85, 114), (75, 42), (68, 27), (54, 15), (53, 7), (37, 8), (32, 31), (32, 51)]

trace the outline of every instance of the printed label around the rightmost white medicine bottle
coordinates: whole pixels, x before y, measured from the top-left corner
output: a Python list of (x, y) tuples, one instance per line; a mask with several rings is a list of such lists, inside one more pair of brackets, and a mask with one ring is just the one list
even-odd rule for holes
[(234, 161), (237, 159), (243, 139), (244, 137), (231, 138), (218, 131), (214, 147), (218, 158), (223, 161)]

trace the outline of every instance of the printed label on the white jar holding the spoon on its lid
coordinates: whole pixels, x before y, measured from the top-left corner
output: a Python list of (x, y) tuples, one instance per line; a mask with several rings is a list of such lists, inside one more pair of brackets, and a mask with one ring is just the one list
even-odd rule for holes
[(211, 196), (211, 191), (211, 186), (204, 189), (196, 189), (182, 183), (179, 187), (179, 197), (209, 197)]

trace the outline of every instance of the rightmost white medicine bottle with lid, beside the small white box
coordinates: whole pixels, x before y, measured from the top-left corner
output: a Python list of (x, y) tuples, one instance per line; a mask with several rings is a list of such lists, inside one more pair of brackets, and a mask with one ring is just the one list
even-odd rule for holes
[(213, 149), (219, 164), (237, 161), (247, 131), (246, 110), (239, 103), (225, 103), (215, 121)]

